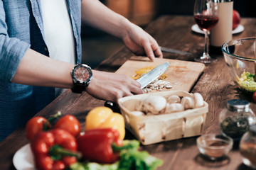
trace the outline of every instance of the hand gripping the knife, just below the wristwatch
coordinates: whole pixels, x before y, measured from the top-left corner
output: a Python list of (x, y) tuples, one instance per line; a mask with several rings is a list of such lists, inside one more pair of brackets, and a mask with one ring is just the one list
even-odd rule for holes
[(117, 102), (119, 98), (142, 94), (140, 84), (124, 74), (92, 70), (92, 81), (86, 91), (95, 98)]

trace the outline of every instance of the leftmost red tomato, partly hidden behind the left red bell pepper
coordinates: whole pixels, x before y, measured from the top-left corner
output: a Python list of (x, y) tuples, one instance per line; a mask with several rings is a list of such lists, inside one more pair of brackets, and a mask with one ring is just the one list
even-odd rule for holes
[[(33, 138), (38, 134), (38, 132), (43, 131), (43, 125), (46, 125), (46, 118), (43, 118), (41, 116), (37, 116), (34, 118), (31, 118), (26, 123), (26, 137), (29, 141), (33, 140)], [(50, 128), (50, 124), (48, 125)]]

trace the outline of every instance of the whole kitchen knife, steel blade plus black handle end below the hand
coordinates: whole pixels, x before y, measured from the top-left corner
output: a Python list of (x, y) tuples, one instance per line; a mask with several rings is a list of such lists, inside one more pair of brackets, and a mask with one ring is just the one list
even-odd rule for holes
[[(142, 77), (137, 79), (139, 84), (141, 84), (141, 89), (143, 89), (145, 86), (150, 84), (152, 81), (154, 81), (156, 78), (160, 77), (161, 74), (166, 72), (166, 69), (168, 69), (170, 63), (169, 62), (164, 62), (163, 64), (160, 64), (158, 67), (155, 67), (152, 69), (150, 72), (144, 74)], [(119, 113), (119, 106), (117, 103), (114, 103), (112, 101), (106, 101), (104, 106), (111, 108), (113, 112), (118, 112)]]

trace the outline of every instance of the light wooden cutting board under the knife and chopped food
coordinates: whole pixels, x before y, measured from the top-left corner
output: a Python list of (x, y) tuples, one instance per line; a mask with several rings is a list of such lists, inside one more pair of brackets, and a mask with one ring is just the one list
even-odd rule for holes
[(205, 64), (199, 62), (186, 62), (159, 58), (156, 58), (154, 62), (151, 62), (147, 57), (134, 56), (127, 60), (127, 62), (124, 62), (124, 64), (117, 69), (116, 73), (134, 77), (136, 75), (136, 70), (150, 66), (157, 67), (159, 64), (164, 62), (170, 63), (169, 68), (165, 72), (168, 77), (164, 79), (164, 81), (169, 81), (173, 87), (171, 89), (164, 88), (161, 91), (183, 90), (189, 92), (205, 67)]

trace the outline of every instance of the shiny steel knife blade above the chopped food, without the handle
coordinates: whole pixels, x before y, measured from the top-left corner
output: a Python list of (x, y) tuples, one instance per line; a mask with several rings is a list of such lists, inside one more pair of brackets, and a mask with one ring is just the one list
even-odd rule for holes
[(158, 67), (155, 67), (150, 72), (144, 74), (142, 77), (137, 79), (139, 84), (141, 84), (141, 89), (143, 89), (146, 85), (150, 84), (156, 78), (160, 77), (161, 74), (166, 72), (166, 69), (168, 69), (169, 65), (170, 65), (169, 62), (165, 62), (163, 64), (160, 64)]

